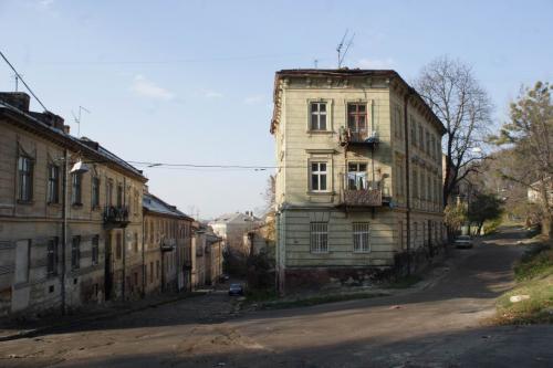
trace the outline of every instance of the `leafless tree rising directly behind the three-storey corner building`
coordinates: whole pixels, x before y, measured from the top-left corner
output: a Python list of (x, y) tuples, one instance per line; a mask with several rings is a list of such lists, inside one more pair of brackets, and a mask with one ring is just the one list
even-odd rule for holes
[(459, 181), (478, 171), (478, 162), (484, 158), (482, 146), (493, 106), (472, 69), (448, 56), (425, 66), (414, 85), (446, 126), (444, 203), (447, 203)]

